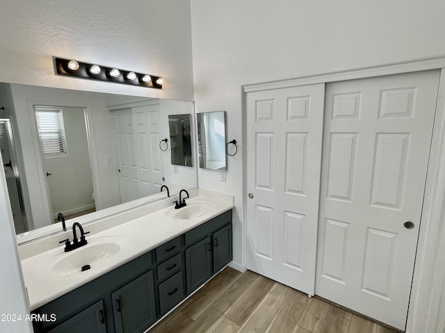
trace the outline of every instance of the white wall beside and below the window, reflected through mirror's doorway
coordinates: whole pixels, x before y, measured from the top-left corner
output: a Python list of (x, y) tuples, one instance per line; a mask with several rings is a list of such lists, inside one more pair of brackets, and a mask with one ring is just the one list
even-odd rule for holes
[[(97, 112), (95, 110), (95, 112)], [(67, 154), (45, 157), (52, 212), (65, 216), (94, 207), (88, 135), (83, 108), (62, 108)]]

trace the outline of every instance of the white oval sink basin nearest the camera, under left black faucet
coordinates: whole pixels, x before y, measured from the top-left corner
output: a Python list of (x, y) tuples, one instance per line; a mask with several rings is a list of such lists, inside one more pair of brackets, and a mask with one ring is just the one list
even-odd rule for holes
[[(122, 250), (122, 245), (129, 240), (121, 237), (98, 237), (88, 240), (88, 244), (70, 252), (64, 249), (43, 259), (38, 275), (42, 278), (67, 278), (73, 275), (83, 275), (94, 271), (115, 259)], [(87, 268), (86, 265), (90, 267)], [(83, 268), (83, 271), (82, 271)]]

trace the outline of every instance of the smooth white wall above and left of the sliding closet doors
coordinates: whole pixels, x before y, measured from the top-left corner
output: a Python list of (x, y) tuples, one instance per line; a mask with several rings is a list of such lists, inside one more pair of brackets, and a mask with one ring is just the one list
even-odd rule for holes
[(203, 189), (235, 196), (234, 262), (244, 265), (242, 85), (445, 56), (444, 1), (191, 0), (197, 112), (227, 111), (227, 182), (199, 169)]

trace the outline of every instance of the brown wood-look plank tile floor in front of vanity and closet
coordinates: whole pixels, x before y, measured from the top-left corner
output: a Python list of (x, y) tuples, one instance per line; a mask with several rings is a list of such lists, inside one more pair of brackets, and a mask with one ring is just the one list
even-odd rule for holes
[(264, 276), (225, 268), (150, 333), (395, 333)]

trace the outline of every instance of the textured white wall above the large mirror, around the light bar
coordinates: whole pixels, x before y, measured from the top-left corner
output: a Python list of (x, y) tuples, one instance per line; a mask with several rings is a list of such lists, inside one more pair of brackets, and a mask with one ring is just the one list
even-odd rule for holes
[[(193, 99), (188, 1), (3, 1), (0, 31), (0, 82)], [(163, 76), (163, 89), (56, 76), (53, 56)]]

